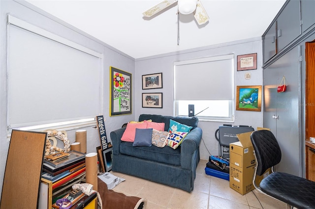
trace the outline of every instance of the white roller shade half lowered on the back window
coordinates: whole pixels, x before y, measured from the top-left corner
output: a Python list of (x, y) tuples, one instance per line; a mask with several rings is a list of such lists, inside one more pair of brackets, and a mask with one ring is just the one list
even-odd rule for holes
[(175, 100), (233, 100), (233, 54), (174, 62)]

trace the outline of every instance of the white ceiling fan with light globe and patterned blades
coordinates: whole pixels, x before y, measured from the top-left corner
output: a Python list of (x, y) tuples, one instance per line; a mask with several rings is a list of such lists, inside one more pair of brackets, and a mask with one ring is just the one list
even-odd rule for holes
[(196, 19), (198, 25), (203, 25), (209, 21), (209, 16), (207, 15), (200, 0), (163, 0), (142, 14), (145, 17), (151, 17), (159, 11), (171, 6), (175, 2), (177, 2), (179, 13), (183, 15), (194, 13), (194, 18)]

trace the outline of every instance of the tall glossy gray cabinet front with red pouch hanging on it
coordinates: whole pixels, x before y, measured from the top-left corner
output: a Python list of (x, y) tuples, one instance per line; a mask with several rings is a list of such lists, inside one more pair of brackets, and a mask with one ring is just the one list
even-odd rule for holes
[[(275, 134), (282, 150), (276, 170), (302, 176), (301, 67), (299, 46), (263, 70), (264, 127)], [(277, 92), (282, 78), (286, 91)], [(275, 118), (276, 117), (276, 118)]]

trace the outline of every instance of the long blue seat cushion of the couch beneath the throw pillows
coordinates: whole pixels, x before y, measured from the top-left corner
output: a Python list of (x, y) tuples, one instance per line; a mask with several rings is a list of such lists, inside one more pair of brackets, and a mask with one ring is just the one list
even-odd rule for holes
[[(181, 149), (172, 149), (168, 146), (159, 148), (156, 146), (132, 146), (132, 142), (122, 141), (120, 152), (125, 155), (148, 159), (156, 162), (181, 165)], [(128, 162), (126, 162), (128, 163)], [(158, 172), (158, 171), (157, 171)]]

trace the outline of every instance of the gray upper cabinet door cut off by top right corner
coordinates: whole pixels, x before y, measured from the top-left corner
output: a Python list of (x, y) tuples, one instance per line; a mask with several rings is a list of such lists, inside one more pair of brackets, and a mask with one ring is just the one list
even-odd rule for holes
[(315, 0), (301, 0), (302, 32), (315, 24)]

